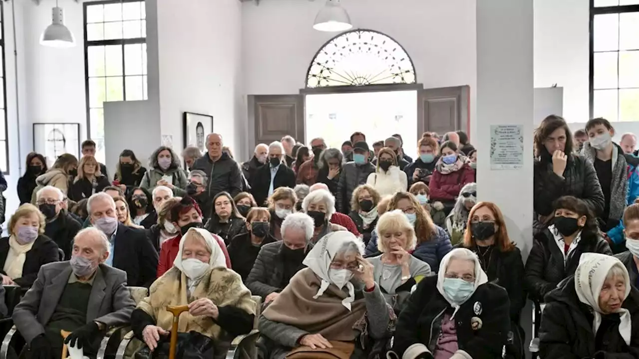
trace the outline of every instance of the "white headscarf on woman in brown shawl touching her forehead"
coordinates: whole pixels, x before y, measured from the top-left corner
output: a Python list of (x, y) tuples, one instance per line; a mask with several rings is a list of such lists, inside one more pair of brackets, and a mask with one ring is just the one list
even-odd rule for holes
[[(348, 231), (336, 231), (327, 234), (319, 239), (318, 243), (311, 249), (309, 254), (304, 258), (302, 264), (307, 266), (321, 279), (321, 285), (319, 286), (318, 293), (313, 296), (317, 299), (328, 288), (331, 283), (328, 271), (330, 270), (330, 263), (337, 255), (337, 252), (348, 242), (353, 242), (360, 250), (360, 254), (363, 251), (363, 243), (358, 240), (355, 234)], [(351, 303), (355, 301), (355, 287), (351, 282), (346, 283), (346, 289), (348, 289), (348, 298), (342, 301), (342, 304), (346, 309), (351, 310)]]

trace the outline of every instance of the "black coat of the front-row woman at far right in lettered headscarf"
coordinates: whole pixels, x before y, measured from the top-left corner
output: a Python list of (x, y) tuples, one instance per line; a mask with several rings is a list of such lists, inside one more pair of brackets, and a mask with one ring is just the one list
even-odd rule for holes
[(639, 292), (635, 287), (622, 304), (631, 315), (630, 346), (619, 334), (619, 314), (604, 315), (597, 335), (592, 332), (592, 309), (580, 302), (574, 277), (564, 280), (546, 299), (539, 328), (541, 358), (639, 358)]

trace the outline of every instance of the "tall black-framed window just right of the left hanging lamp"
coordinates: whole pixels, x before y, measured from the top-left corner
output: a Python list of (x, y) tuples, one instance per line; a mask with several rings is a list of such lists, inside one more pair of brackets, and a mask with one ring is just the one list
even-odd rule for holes
[(144, 1), (84, 3), (88, 135), (104, 162), (104, 102), (146, 100)]

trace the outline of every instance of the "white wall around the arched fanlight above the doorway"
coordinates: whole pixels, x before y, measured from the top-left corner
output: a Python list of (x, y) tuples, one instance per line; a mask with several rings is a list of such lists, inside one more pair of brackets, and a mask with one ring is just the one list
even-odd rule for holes
[[(324, 1), (261, 0), (242, 4), (242, 58), (247, 95), (288, 95), (305, 87), (317, 50), (336, 35), (312, 28)], [(353, 27), (394, 38), (413, 60), (425, 88), (470, 85), (475, 118), (474, 0), (343, 0)], [(473, 131), (471, 131), (473, 132)]]

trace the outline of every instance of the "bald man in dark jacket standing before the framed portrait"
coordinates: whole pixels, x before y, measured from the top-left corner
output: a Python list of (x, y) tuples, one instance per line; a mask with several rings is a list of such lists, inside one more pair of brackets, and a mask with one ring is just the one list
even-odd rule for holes
[(210, 134), (206, 136), (206, 155), (198, 158), (193, 164), (193, 169), (204, 171), (208, 176), (208, 197), (213, 199), (220, 192), (229, 192), (235, 197), (242, 192), (242, 172), (240, 166), (222, 152), (224, 142), (222, 135)]

